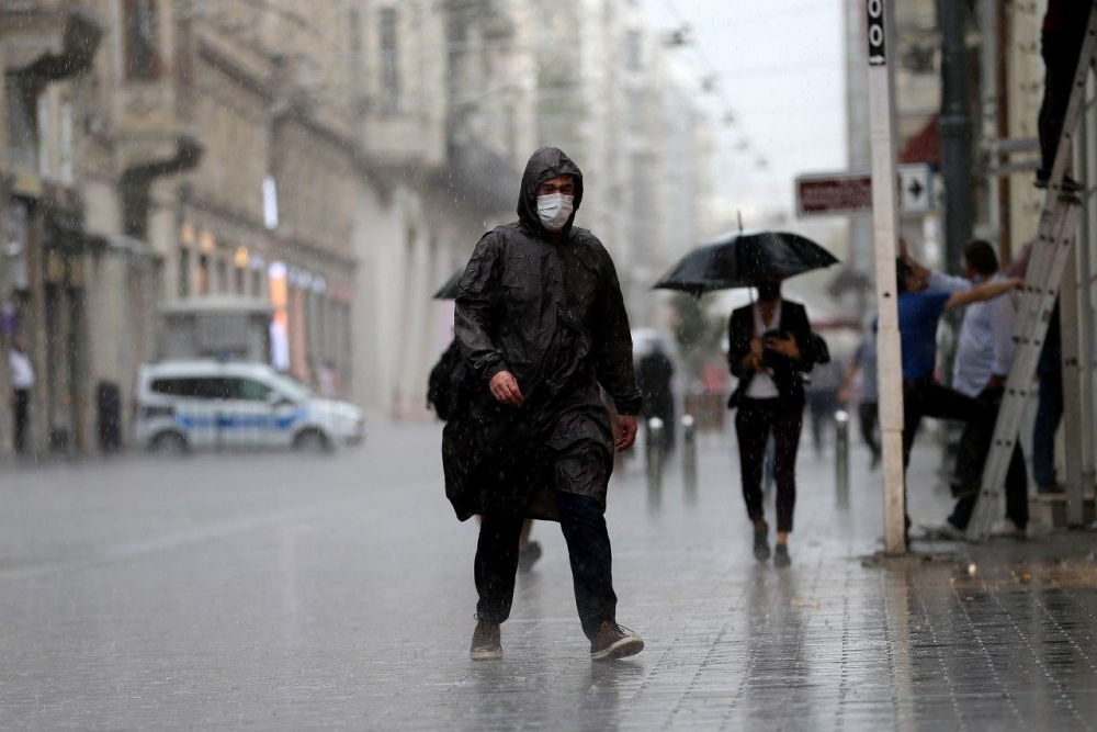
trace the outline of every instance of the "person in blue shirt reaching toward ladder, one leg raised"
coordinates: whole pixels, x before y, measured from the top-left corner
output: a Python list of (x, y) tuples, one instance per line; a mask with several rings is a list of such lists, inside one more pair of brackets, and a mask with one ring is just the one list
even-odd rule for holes
[[(898, 286), (898, 329), (903, 361), (903, 466), (911, 463), (911, 448), (923, 417), (966, 423), (987, 419), (976, 399), (937, 383), (937, 324), (947, 311), (971, 305), (1016, 290), (1018, 278), (983, 282), (962, 292), (929, 289), (921, 275), (903, 257), (895, 260)], [(909, 525), (909, 519), (907, 519)]]

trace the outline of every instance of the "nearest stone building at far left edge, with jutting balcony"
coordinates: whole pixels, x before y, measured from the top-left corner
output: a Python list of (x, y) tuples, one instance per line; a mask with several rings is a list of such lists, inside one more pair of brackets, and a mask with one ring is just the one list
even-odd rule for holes
[(111, 243), (89, 230), (79, 185), (81, 97), (104, 27), (72, 3), (0, 2), (0, 457), (11, 450), (8, 352), (35, 372), (29, 449), (88, 449), (88, 303)]

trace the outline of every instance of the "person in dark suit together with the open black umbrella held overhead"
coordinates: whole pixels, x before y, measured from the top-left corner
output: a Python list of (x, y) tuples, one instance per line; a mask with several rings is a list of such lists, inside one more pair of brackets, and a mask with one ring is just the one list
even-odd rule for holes
[(796, 502), (796, 448), (804, 413), (804, 374), (830, 360), (826, 341), (812, 333), (803, 305), (781, 297), (789, 277), (837, 262), (828, 251), (796, 234), (739, 232), (688, 255), (656, 288), (700, 295), (712, 290), (755, 286), (758, 301), (732, 313), (727, 362), (739, 383), (728, 402), (737, 408), (739, 472), (747, 517), (754, 523), (754, 553), (770, 558), (769, 525), (762, 511), (761, 473), (766, 442), (777, 452), (777, 548), (773, 563), (787, 567), (789, 533)]

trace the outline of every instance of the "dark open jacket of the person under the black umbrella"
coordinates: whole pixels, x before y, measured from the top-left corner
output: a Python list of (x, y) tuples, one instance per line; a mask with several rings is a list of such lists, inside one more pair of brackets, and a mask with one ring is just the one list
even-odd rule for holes
[[(747, 387), (757, 373), (753, 369), (743, 368), (743, 359), (750, 352), (750, 339), (755, 337), (754, 306), (747, 305), (732, 312), (732, 317), (727, 324), (727, 364), (732, 374), (738, 378), (739, 383), (728, 401), (728, 408), (734, 409), (739, 405), (739, 401), (745, 397)], [(804, 405), (804, 374), (812, 370), (816, 363), (827, 363), (830, 361), (830, 352), (826, 341), (812, 333), (811, 324), (807, 322), (807, 311), (799, 303), (781, 301), (781, 322), (776, 328), (781, 334), (791, 335), (800, 347), (800, 361), (793, 361), (787, 356), (767, 350), (762, 357), (762, 363), (769, 369), (777, 384), (779, 397), (782, 405), (800, 407)], [(757, 334), (764, 336), (765, 334)]]

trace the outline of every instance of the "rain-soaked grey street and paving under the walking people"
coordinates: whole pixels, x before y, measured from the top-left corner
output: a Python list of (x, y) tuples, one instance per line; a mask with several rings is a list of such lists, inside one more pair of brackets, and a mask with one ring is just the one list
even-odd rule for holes
[[(475, 523), (436, 426), (332, 458), (124, 459), (0, 474), (0, 729), (1097, 727), (1092, 534), (881, 561), (879, 476), (805, 449), (793, 566), (750, 558), (730, 438), (701, 485), (610, 489), (633, 660), (591, 664), (564, 543), (519, 582), (506, 657), (471, 662)], [(936, 521), (935, 453), (912, 514)]]

